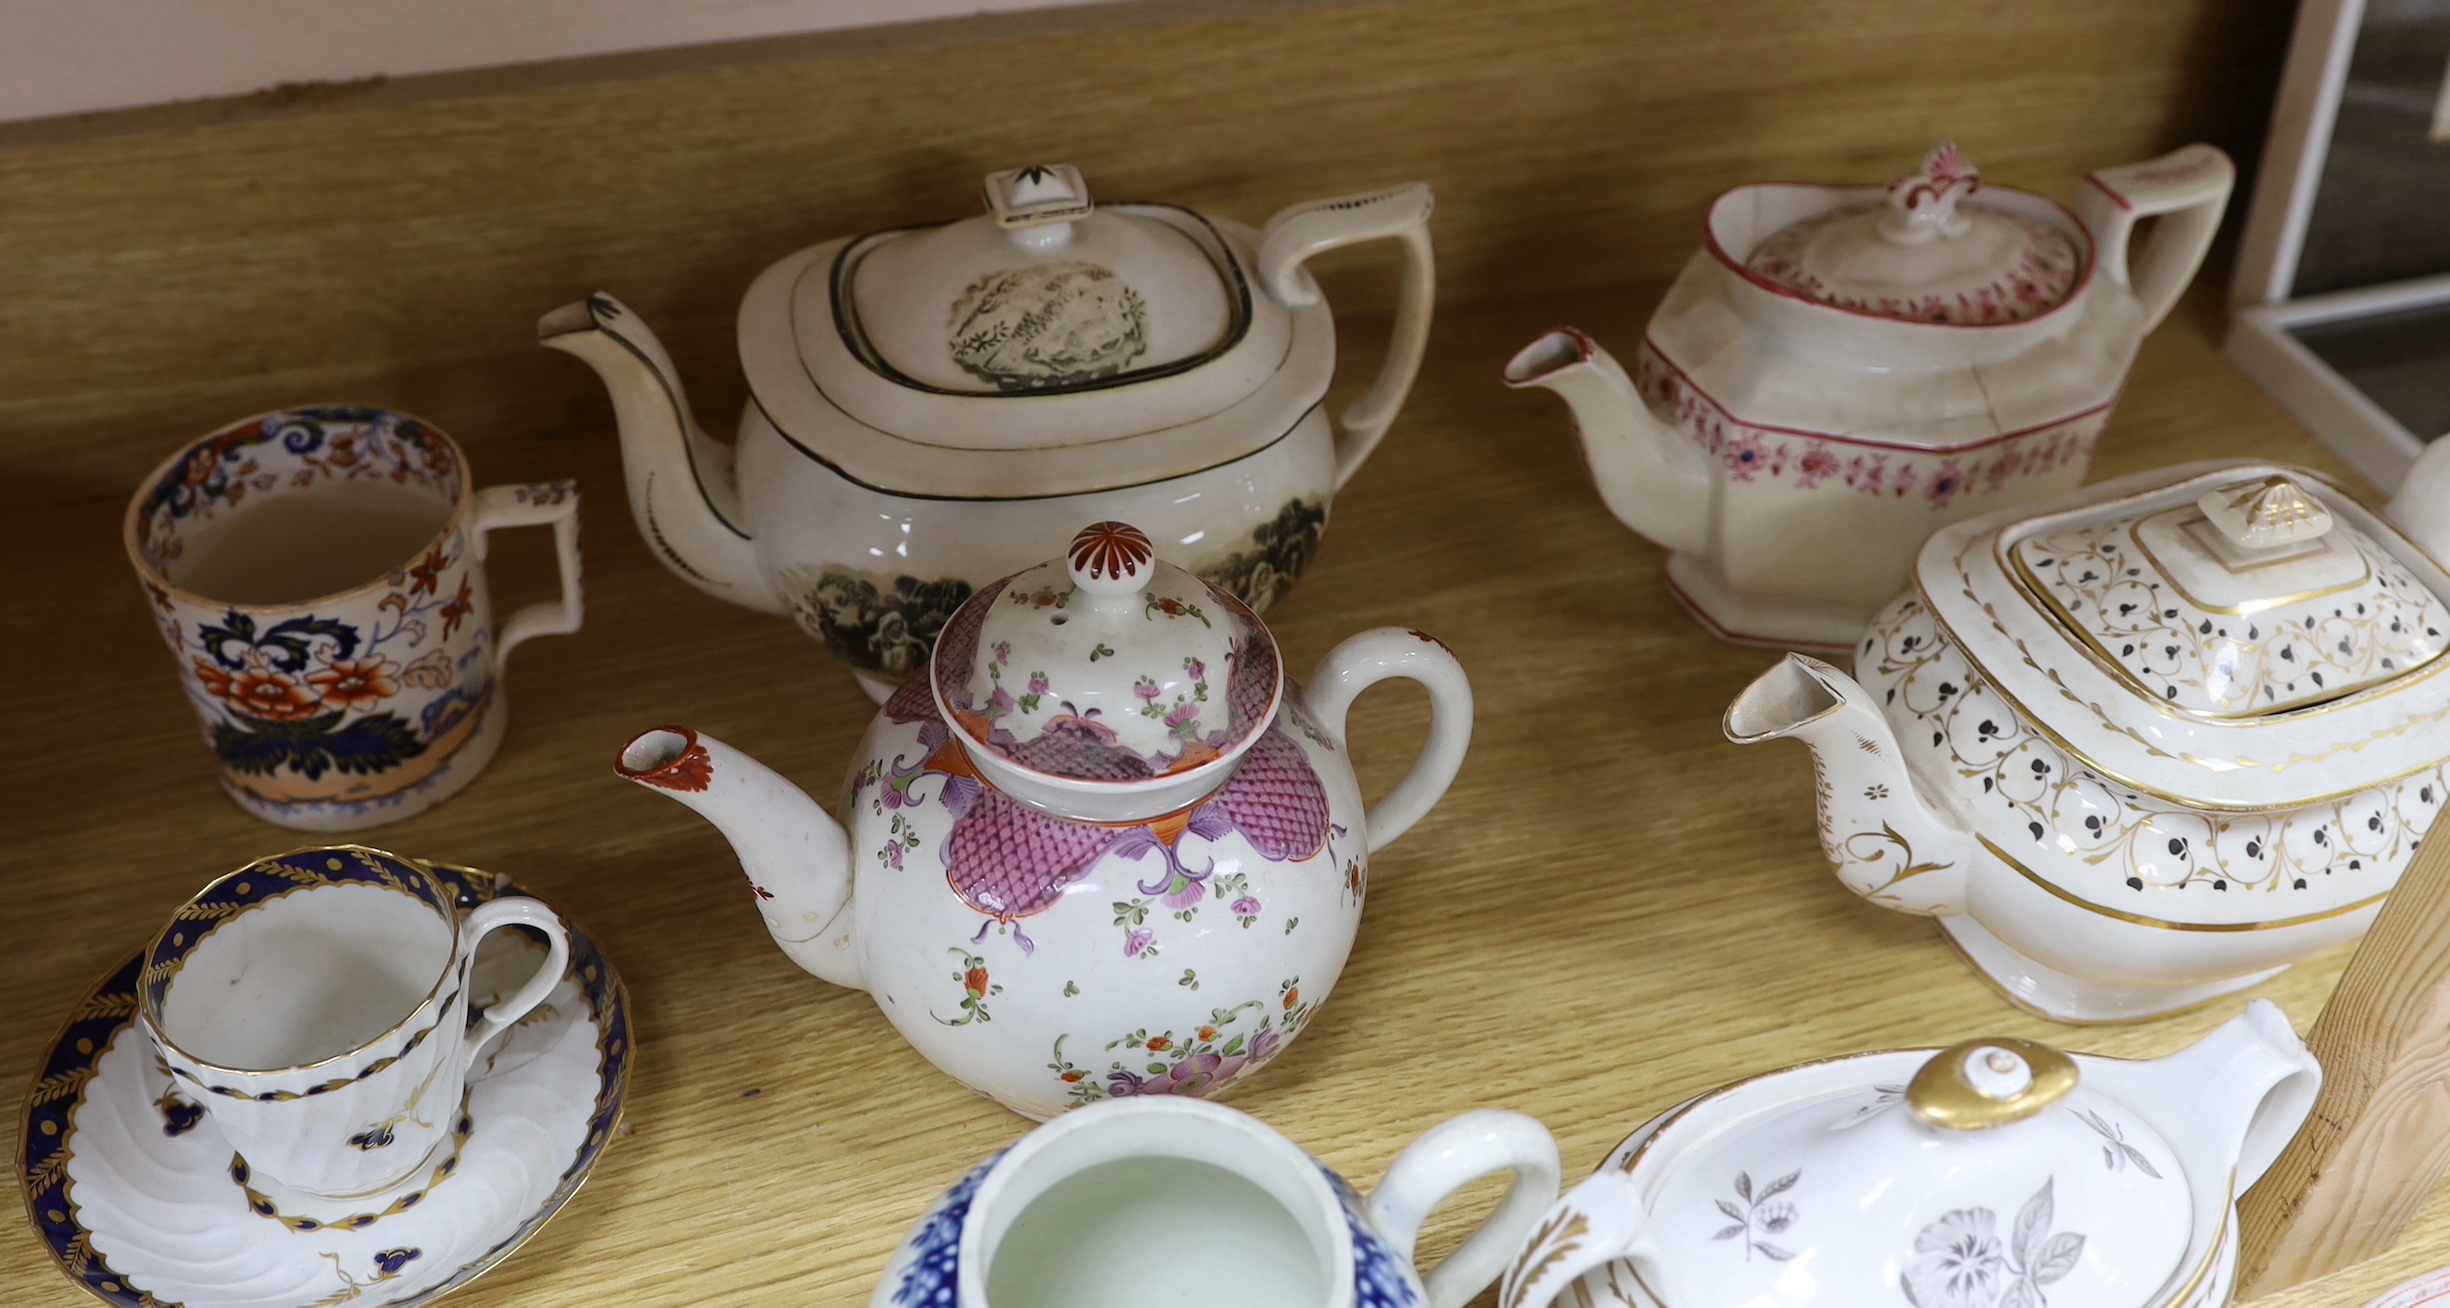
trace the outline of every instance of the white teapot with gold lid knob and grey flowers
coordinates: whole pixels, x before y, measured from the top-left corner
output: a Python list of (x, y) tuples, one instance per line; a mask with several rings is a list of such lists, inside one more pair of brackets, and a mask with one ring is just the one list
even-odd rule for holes
[(1499, 1306), (2217, 1308), (2237, 1195), (2320, 1085), (2266, 999), (2141, 1063), (2007, 1036), (1803, 1063), (1617, 1146)]

